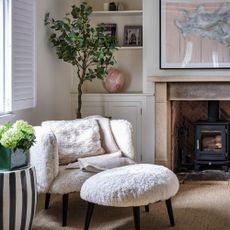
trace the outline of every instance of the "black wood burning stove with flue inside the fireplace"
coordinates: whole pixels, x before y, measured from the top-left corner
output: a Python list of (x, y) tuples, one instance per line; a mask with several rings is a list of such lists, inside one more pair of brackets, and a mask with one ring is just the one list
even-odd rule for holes
[(219, 120), (219, 102), (208, 102), (208, 120), (196, 126), (195, 170), (201, 165), (229, 166), (230, 123)]

